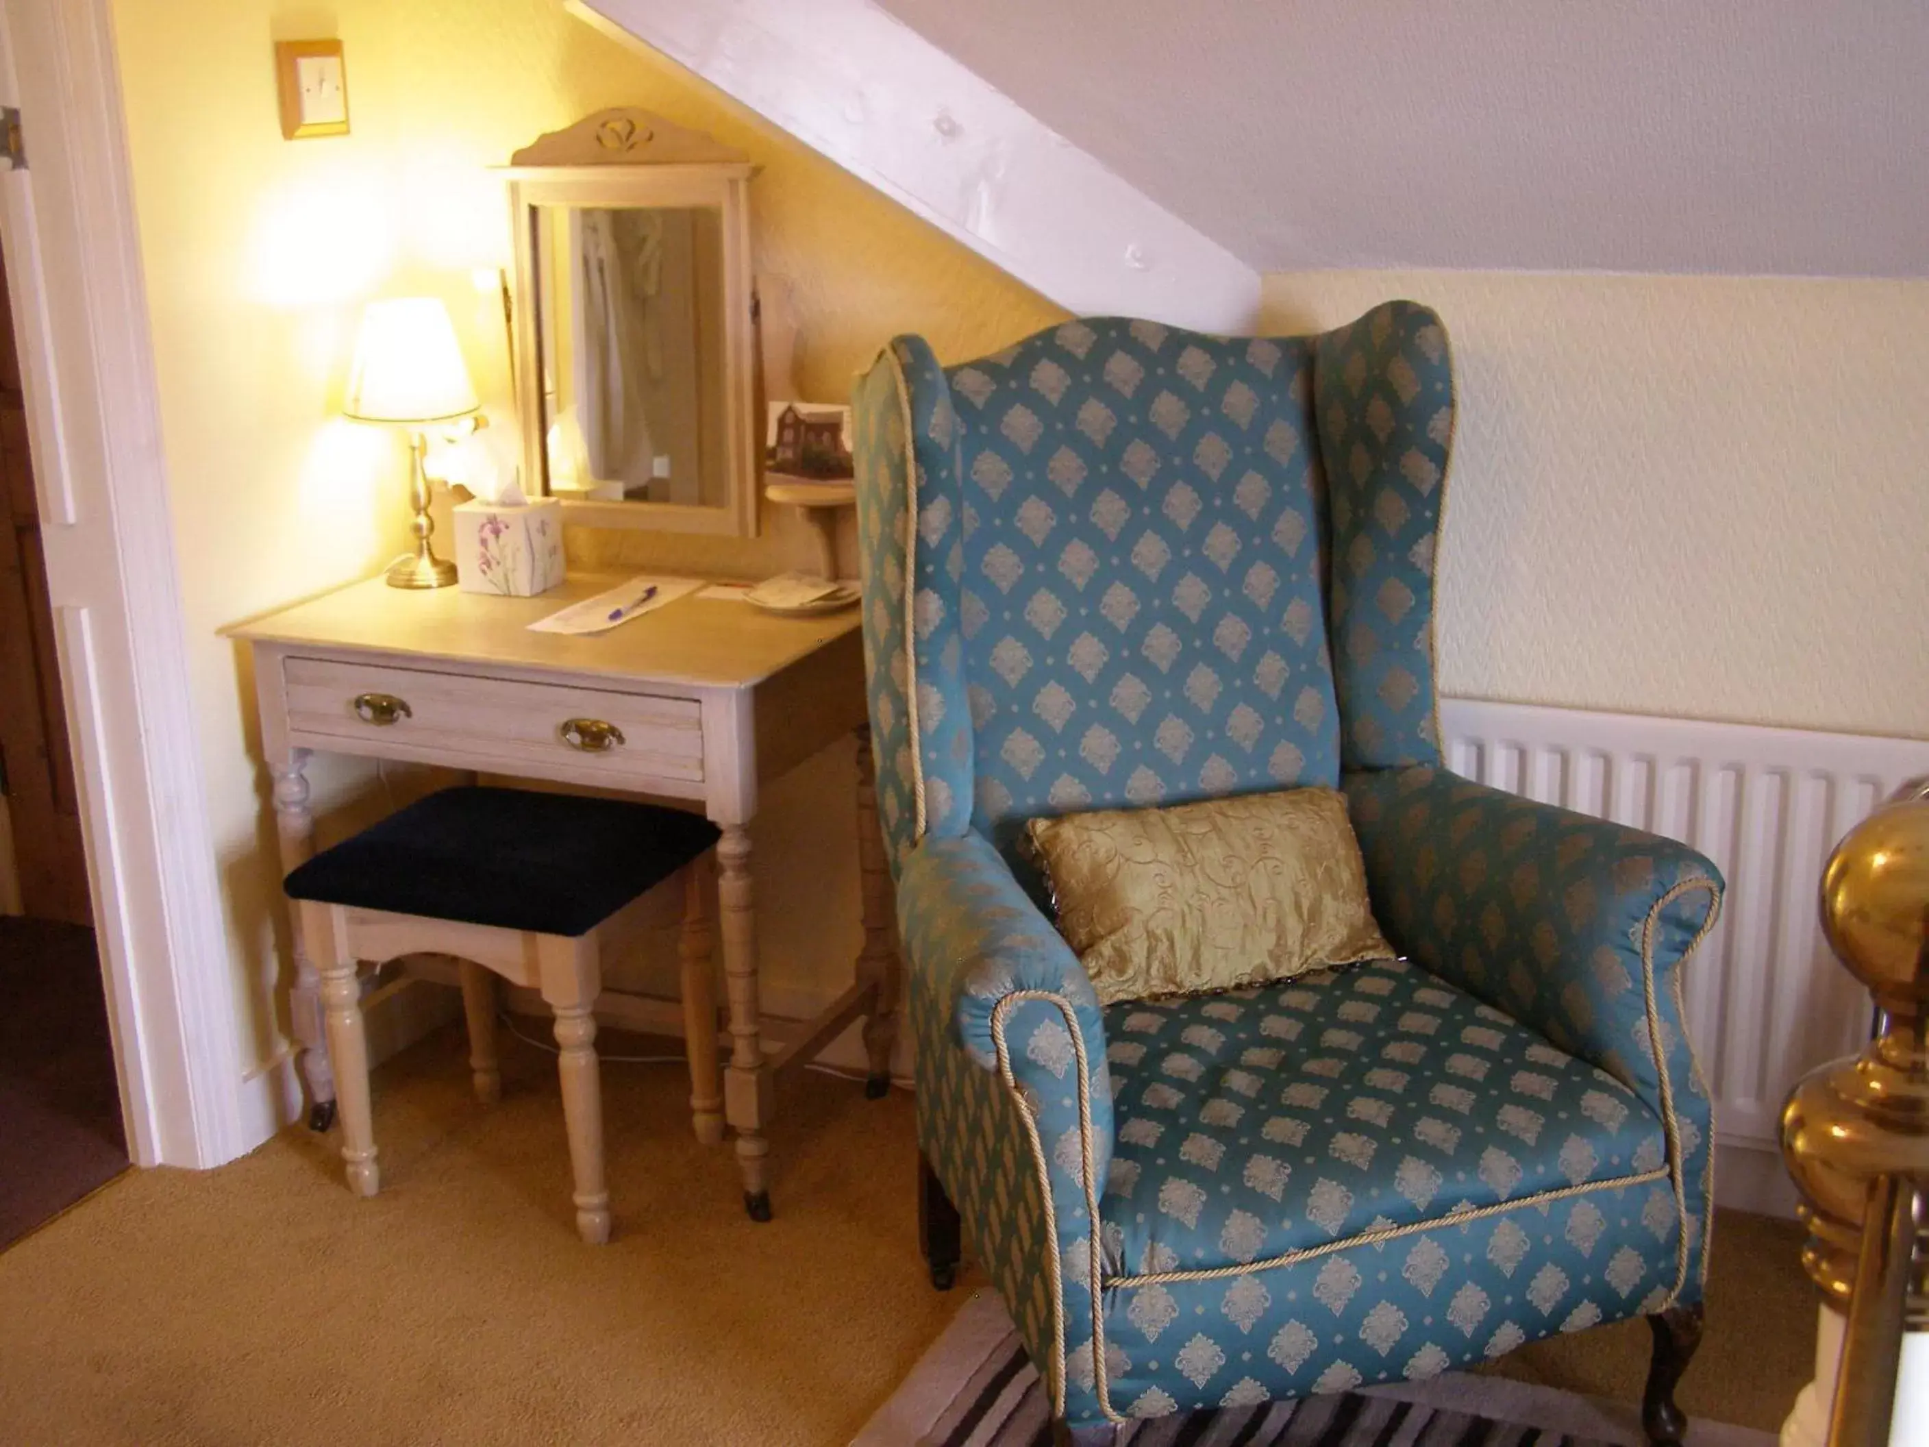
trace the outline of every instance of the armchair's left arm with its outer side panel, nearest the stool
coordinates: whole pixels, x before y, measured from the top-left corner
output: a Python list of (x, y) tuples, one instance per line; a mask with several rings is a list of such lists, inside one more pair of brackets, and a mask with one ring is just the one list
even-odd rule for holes
[(1063, 1410), (1067, 1339), (1090, 1352), (1094, 1335), (1092, 1221), (1113, 1146), (1098, 996), (984, 835), (918, 843), (897, 913), (918, 1146)]

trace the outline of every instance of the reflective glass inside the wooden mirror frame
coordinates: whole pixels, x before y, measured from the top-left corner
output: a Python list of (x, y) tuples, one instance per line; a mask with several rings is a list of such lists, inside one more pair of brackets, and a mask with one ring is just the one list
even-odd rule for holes
[(723, 214), (532, 206), (544, 490), (729, 504)]

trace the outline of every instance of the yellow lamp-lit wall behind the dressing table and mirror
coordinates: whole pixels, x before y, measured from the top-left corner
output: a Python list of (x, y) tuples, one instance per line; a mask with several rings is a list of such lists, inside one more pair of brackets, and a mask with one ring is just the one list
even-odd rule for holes
[[(939, 355), (964, 357), (1059, 313), (557, 0), (118, 0), (114, 17), (231, 969), (255, 1011), (243, 1057), (270, 1061), (280, 870), (251, 681), (216, 629), (365, 577), (403, 546), (399, 450), (334, 417), (365, 299), (444, 295), (484, 399), (507, 413), (500, 309), (471, 282), (473, 268), (509, 255), (486, 166), (611, 104), (654, 108), (748, 150), (764, 166), (756, 266), (793, 282), (799, 374), (820, 399), (843, 399), (893, 332), (924, 332)], [(284, 141), (270, 44), (330, 35), (345, 42), (353, 133)], [(579, 552), (583, 542), (596, 552), (594, 540)], [(787, 521), (748, 546), (652, 552), (631, 534), (619, 552), (737, 575), (812, 558)], [(324, 841), (384, 806), (365, 766), (316, 766), (314, 779), (318, 803), (338, 806)], [(814, 988), (856, 949), (851, 847), (833, 832), (826, 853), (822, 832), (822, 820), (849, 818), (849, 781), (837, 751), (766, 799), (766, 920), (789, 926), (764, 942), (779, 986)]]

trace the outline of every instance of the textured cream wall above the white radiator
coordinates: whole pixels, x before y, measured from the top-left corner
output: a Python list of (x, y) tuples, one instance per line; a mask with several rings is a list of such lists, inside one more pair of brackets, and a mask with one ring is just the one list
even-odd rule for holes
[(1929, 737), (1929, 282), (1300, 272), (1435, 307), (1445, 693)]

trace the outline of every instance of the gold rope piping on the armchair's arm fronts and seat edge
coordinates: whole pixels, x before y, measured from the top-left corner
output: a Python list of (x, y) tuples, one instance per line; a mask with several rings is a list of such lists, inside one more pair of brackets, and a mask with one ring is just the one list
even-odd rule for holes
[[(1098, 1190), (1096, 1190), (1096, 1169), (1092, 1160), (1092, 1100), (1090, 1100), (1090, 1075), (1086, 1065), (1084, 1036), (1078, 1028), (1078, 1019), (1073, 1013), (1071, 1001), (1059, 994), (1047, 990), (1015, 990), (997, 1001), (992, 1009), (992, 1040), (997, 1048), (997, 1069), (1005, 1082), (1005, 1088), (1013, 1094), (1019, 1106), (1019, 1115), (1024, 1119), (1024, 1131), (1032, 1146), (1032, 1165), (1038, 1171), (1038, 1187), (1046, 1206), (1046, 1244), (1047, 1260), (1051, 1268), (1051, 1320), (1053, 1320), (1053, 1341), (1051, 1341), (1051, 1405), (1053, 1412), (1065, 1414), (1065, 1268), (1059, 1258), (1059, 1233), (1057, 1233), (1057, 1214), (1051, 1196), (1051, 1171), (1046, 1161), (1044, 1142), (1038, 1138), (1038, 1121), (1032, 1117), (1030, 1107), (1024, 1102), (1024, 1094), (1019, 1090), (1017, 1078), (1011, 1071), (1011, 1051), (1005, 1044), (1005, 1011), (1007, 1007), (1026, 1001), (1042, 999), (1057, 1007), (1065, 1017), (1067, 1034), (1073, 1038), (1073, 1053), (1078, 1065), (1078, 1144), (1084, 1158), (1084, 1188), (1086, 1188), (1086, 1215), (1092, 1223), (1088, 1237), (1090, 1262), (1086, 1270), (1088, 1295), (1092, 1298), (1092, 1383), (1098, 1397), (1100, 1410), (1111, 1422), (1127, 1422), (1130, 1418), (1119, 1414), (1111, 1405), (1111, 1389), (1105, 1378), (1105, 1312), (1101, 1291), (1109, 1289), (1134, 1289), (1167, 1285), (1175, 1281), (1211, 1281), (1233, 1275), (1252, 1275), (1256, 1271), (1269, 1271), (1275, 1268), (1296, 1266), (1300, 1262), (1329, 1256), (1339, 1250), (1350, 1250), (1356, 1246), (1372, 1246), (1383, 1241), (1393, 1241), (1397, 1237), (1414, 1235), (1420, 1231), (1443, 1229), (1449, 1225), (1464, 1225), (1476, 1221), (1483, 1215), (1499, 1215), (1505, 1212), (1526, 1210), (1532, 1206), (1564, 1200), (1568, 1196), (1582, 1196), (1593, 1190), (1624, 1190), (1628, 1187), (1640, 1187), (1653, 1181), (1667, 1179), (1674, 1188), (1674, 1208), (1678, 1215), (1678, 1231), (1674, 1241), (1674, 1291), (1669, 1293), (1667, 1306), (1672, 1306), (1680, 1298), (1680, 1293), (1688, 1285), (1688, 1194), (1686, 1194), (1686, 1160), (1680, 1146), (1680, 1121), (1674, 1113), (1674, 1086), (1669, 1077), (1667, 1053), (1661, 1050), (1661, 1019), (1659, 1003), (1655, 999), (1655, 922), (1661, 918), (1661, 911), (1680, 899), (1684, 893), (1694, 889), (1703, 889), (1709, 895), (1707, 916), (1701, 920), (1701, 928), (1696, 932), (1688, 949), (1682, 951), (1680, 961), (1674, 969), (1674, 1009), (1678, 1017), (1684, 1017), (1682, 1007), (1682, 972), (1688, 961), (1694, 957), (1696, 949), (1715, 928), (1715, 920), (1721, 915), (1721, 889), (1707, 876), (1694, 876), (1682, 880), (1672, 889), (1669, 889), (1661, 899), (1657, 899), (1649, 911), (1647, 918), (1642, 922), (1642, 984), (1644, 984), (1644, 1007), (1647, 1015), (1647, 1038), (1649, 1050), (1655, 1057), (1655, 1073), (1661, 1084), (1661, 1125), (1667, 1136), (1669, 1163), (1655, 1167), (1653, 1171), (1642, 1171), (1636, 1175), (1615, 1177), (1611, 1181), (1588, 1181), (1574, 1187), (1561, 1187), (1559, 1190), (1541, 1190), (1532, 1196), (1522, 1196), (1520, 1200), (1497, 1202), (1493, 1206), (1481, 1206), (1472, 1212), (1449, 1212), (1447, 1215), (1433, 1217), (1431, 1221), (1418, 1221), (1402, 1227), (1385, 1227), (1381, 1231), (1362, 1231), (1358, 1235), (1346, 1237), (1345, 1241), (1331, 1241), (1323, 1246), (1306, 1246), (1296, 1252), (1285, 1252), (1283, 1256), (1273, 1256), (1263, 1262), (1248, 1262), (1244, 1266), (1219, 1266), (1204, 1271), (1152, 1271), (1146, 1275), (1103, 1275), (1100, 1268), (1100, 1212), (1098, 1212)], [(1694, 1051), (1694, 1040), (1688, 1038), (1686, 1030), (1682, 1040), (1688, 1046), (1688, 1063), (1696, 1078), (1701, 1080), (1701, 1061)], [(1705, 1084), (1703, 1084), (1705, 1094)], [(1713, 1140), (1707, 1142), (1713, 1150)], [(1713, 1163), (1711, 1163), (1713, 1165)], [(1709, 1169), (1705, 1173), (1703, 1188), (1703, 1223), (1713, 1217), (1715, 1210), (1715, 1173)], [(1707, 1252), (1701, 1252), (1701, 1279), (1707, 1279)]]

